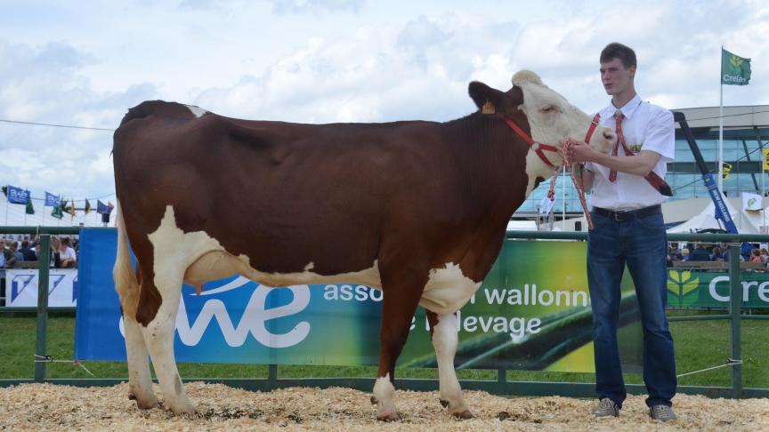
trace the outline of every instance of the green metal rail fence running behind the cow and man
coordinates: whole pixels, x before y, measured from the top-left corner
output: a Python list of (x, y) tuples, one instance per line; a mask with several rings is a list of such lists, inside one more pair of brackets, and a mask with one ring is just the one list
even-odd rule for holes
[[(91, 228), (93, 229), (93, 228)], [(96, 229), (114, 229), (114, 228), (96, 228)], [(41, 256), (39, 262), (50, 262), (50, 242), (53, 235), (77, 235), (79, 228), (60, 228), (60, 227), (0, 227), (0, 235), (20, 234), (40, 236)], [(510, 231), (507, 233), (509, 239), (520, 240), (587, 240), (587, 233), (583, 232), (546, 232), (546, 231)], [(731, 257), (740, 255), (741, 242), (769, 242), (767, 235), (739, 235), (739, 234), (670, 234), (670, 241), (686, 242), (705, 242), (705, 243), (723, 243), (728, 244)], [(47, 345), (47, 326), (48, 326), (48, 266), (40, 266), (38, 296), (37, 296), (37, 329), (36, 329), (36, 348), (35, 358), (46, 359)], [(769, 316), (762, 315), (743, 315), (741, 313), (741, 274), (740, 261), (729, 261), (730, 276), (730, 303), (728, 314), (705, 315), (705, 316), (671, 316), (669, 321), (695, 321), (695, 320), (728, 320), (731, 324), (730, 356), (728, 361), (716, 367), (731, 367), (732, 386), (731, 387), (700, 387), (700, 386), (679, 386), (678, 393), (690, 395), (705, 395), (711, 397), (769, 397), (769, 388), (744, 388), (742, 380), (742, 357), (741, 357), (741, 321), (751, 319), (769, 319)], [(2, 310), (2, 308), (0, 308)], [(0, 330), (2, 332), (2, 330)], [(49, 379), (45, 376), (46, 362), (37, 361), (35, 363), (35, 373), (33, 379), (0, 379), (0, 387), (7, 387), (21, 383), (47, 382), (53, 384), (63, 384), (70, 386), (111, 386), (119, 382), (125, 382), (125, 378), (116, 379)], [(499, 395), (520, 395), (520, 396), (595, 396), (595, 383), (571, 383), (571, 382), (541, 382), (541, 381), (508, 381), (506, 378), (506, 369), (497, 371), (497, 380), (460, 380), (462, 388), (472, 390), (483, 390), (492, 394)], [(187, 379), (185, 381), (200, 381), (199, 379)], [(267, 378), (242, 378), (242, 379), (203, 379), (206, 382), (223, 383), (231, 387), (246, 388), (250, 390), (269, 391), (275, 388), (286, 387), (346, 387), (355, 388), (363, 391), (370, 391), (373, 388), (374, 378), (280, 378), (278, 365), (271, 364), (268, 368)], [(438, 389), (438, 380), (427, 379), (400, 379), (396, 380), (397, 388), (433, 391)], [(646, 388), (643, 384), (628, 384), (627, 392), (630, 394), (644, 394)]]

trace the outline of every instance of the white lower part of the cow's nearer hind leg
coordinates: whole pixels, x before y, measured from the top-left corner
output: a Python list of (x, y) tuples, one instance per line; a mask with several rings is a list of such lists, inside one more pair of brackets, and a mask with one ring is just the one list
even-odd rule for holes
[(149, 280), (149, 277), (145, 277), (142, 281), (142, 291), (144, 283), (153, 284), (154, 282), (161, 298), (157, 314), (146, 327), (142, 328), (142, 333), (147, 348), (150, 350), (152, 365), (158, 376), (160, 390), (163, 392), (163, 405), (166, 409), (177, 414), (194, 412), (195, 408), (184, 391), (184, 385), (179, 377), (179, 371), (176, 369), (174, 357), (174, 332), (176, 313), (179, 310), (179, 301), (182, 297), (183, 270), (174, 269), (173, 266), (162, 268), (164, 268), (165, 274), (155, 275), (154, 281)]

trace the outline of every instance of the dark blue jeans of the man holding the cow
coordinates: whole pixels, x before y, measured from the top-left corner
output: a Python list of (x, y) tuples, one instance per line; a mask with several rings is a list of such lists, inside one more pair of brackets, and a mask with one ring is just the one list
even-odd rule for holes
[(587, 235), (587, 283), (593, 308), (595, 390), (620, 407), (627, 393), (617, 344), (619, 283), (627, 264), (644, 328), (646, 404), (671, 405), (676, 395), (676, 356), (668, 330), (668, 236), (662, 213), (630, 220), (591, 213)]

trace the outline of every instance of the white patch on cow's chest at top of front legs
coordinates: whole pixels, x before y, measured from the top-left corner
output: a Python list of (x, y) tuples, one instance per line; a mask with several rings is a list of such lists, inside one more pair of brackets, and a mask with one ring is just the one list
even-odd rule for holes
[(457, 264), (447, 262), (446, 268), (430, 270), (419, 304), (438, 315), (453, 314), (465, 306), (479, 287), (481, 283), (465, 276)]

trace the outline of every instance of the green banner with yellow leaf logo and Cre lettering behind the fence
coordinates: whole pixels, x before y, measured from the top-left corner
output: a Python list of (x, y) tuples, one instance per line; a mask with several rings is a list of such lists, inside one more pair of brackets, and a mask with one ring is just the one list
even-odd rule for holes
[[(743, 308), (769, 308), (769, 274), (743, 272), (740, 280)], [(668, 270), (668, 307), (728, 308), (729, 300), (726, 271)]]

